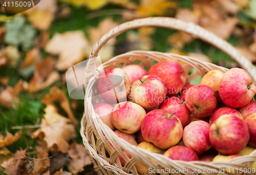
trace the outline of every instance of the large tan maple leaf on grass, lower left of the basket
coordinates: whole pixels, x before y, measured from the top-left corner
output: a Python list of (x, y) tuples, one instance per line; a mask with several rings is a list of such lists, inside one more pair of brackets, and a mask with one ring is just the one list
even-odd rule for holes
[(48, 149), (56, 147), (56, 150), (67, 152), (68, 141), (76, 136), (74, 125), (69, 124), (70, 119), (59, 115), (52, 105), (48, 105), (45, 112), (41, 128), (36, 130), (31, 137), (45, 140)]

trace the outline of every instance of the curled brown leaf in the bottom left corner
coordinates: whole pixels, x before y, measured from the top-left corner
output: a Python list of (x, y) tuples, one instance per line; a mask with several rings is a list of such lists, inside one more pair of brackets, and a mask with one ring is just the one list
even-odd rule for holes
[(24, 169), (23, 166), (27, 163), (26, 152), (31, 149), (31, 147), (27, 147), (26, 149), (17, 150), (12, 158), (8, 159), (7, 161), (4, 161), (1, 166), (5, 168), (4, 173), (10, 174), (10, 175), (18, 175), (21, 174)]

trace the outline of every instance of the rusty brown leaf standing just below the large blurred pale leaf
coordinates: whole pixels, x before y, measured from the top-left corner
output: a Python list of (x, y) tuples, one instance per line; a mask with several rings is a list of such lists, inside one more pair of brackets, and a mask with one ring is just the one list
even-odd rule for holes
[(59, 73), (54, 70), (54, 65), (55, 60), (51, 57), (35, 62), (34, 76), (30, 80), (28, 86), (29, 93), (35, 93), (43, 90), (55, 81), (59, 80), (60, 76)]

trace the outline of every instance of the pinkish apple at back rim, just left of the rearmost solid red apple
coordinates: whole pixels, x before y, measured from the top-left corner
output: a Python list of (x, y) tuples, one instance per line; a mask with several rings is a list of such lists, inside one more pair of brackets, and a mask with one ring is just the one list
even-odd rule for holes
[(133, 84), (133, 82), (137, 80), (139, 77), (147, 75), (146, 70), (144, 70), (140, 65), (137, 64), (125, 65), (125, 67), (123, 67), (122, 69), (128, 75), (131, 84)]

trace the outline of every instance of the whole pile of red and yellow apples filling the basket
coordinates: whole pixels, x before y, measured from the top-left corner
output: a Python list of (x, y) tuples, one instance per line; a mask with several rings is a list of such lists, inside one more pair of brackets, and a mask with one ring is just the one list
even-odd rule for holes
[[(227, 161), (255, 150), (252, 77), (240, 68), (211, 70), (200, 84), (185, 85), (186, 76), (176, 60), (148, 72), (135, 64), (106, 70), (97, 82), (105, 102), (94, 104), (94, 111), (120, 139), (173, 160)], [(148, 169), (135, 166), (140, 174)]]

